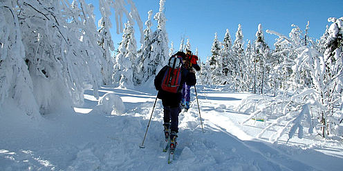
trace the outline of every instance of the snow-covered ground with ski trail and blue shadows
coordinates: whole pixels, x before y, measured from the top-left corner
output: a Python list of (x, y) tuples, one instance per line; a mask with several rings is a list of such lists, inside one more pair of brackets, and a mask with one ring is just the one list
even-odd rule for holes
[(25, 116), (11, 101), (0, 111), (0, 170), (342, 170), (342, 141), (290, 139), (268, 142), (270, 121), (248, 121), (236, 112), (250, 94), (197, 86), (203, 128), (192, 88), (192, 104), (180, 114), (175, 161), (163, 148), (162, 104), (158, 100), (145, 140), (156, 91), (102, 87), (119, 110), (98, 105), (93, 92), (82, 108), (60, 109), (39, 119)]

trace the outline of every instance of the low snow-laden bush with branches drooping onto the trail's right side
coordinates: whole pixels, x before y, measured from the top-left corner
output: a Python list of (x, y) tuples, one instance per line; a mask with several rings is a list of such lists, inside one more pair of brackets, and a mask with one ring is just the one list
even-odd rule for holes
[[(238, 110), (241, 112), (251, 112), (248, 119), (242, 124), (248, 123), (251, 119), (260, 121), (270, 121), (272, 123), (264, 128), (257, 137), (261, 138), (263, 133), (268, 130), (277, 128), (277, 132), (269, 137), (272, 142), (277, 142), (283, 134), (288, 134), (291, 139), (297, 131), (297, 136), (302, 138), (304, 134), (313, 134), (315, 125), (320, 122), (315, 119), (317, 111), (324, 110), (324, 106), (313, 97), (313, 89), (304, 90), (295, 93), (293, 96), (279, 95), (269, 97), (255, 95), (248, 97), (239, 105)], [(307, 128), (307, 130), (304, 130)], [(316, 133), (319, 133), (319, 130)]]

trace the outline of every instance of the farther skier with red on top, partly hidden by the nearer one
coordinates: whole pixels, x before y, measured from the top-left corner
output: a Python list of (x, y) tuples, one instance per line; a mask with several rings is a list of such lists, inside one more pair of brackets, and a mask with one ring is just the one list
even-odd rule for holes
[(196, 78), (195, 78), (195, 69), (196, 71), (200, 70), (200, 66), (198, 66), (198, 57), (196, 55), (192, 54), (192, 51), (186, 50), (186, 56), (183, 59), (183, 66), (194, 76), (194, 82), (192, 81), (187, 81), (187, 83), (183, 84), (183, 97), (181, 100), (181, 105), (185, 110), (187, 111), (189, 109), (189, 101), (190, 101), (190, 88), (191, 86), (195, 86), (196, 84)]

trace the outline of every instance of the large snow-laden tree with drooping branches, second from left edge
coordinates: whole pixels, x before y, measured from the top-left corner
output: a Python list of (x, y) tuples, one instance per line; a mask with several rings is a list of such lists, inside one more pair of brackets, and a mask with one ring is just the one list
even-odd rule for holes
[(41, 114), (62, 102), (81, 105), (85, 82), (93, 85), (97, 97), (102, 78), (97, 57), (102, 51), (92, 7), (84, 1), (17, 2), (25, 60)]

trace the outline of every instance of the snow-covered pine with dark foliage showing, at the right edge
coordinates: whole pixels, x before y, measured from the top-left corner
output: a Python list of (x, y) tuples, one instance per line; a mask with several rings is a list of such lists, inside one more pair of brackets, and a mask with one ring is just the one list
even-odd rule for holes
[[(326, 110), (320, 113), (323, 137), (335, 134), (335, 128), (343, 121), (343, 17), (340, 19), (329, 18), (328, 21), (332, 24), (328, 28), (328, 39), (325, 43), (325, 64), (322, 63), (324, 68), (321, 70), (323, 76), (315, 82), (315, 88), (320, 93), (319, 97), (322, 98), (320, 102), (326, 106)], [(320, 74), (320, 72), (316, 72), (316, 74)], [(313, 75), (313, 77), (316, 76)]]

